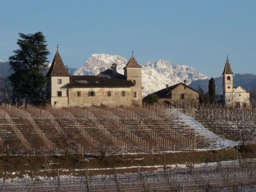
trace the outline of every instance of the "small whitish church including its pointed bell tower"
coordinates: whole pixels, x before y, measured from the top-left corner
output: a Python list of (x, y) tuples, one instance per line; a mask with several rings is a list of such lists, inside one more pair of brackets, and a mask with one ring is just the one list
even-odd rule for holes
[(233, 72), (231, 70), (228, 58), (222, 73), (223, 77), (223, 100), (226, 106), (236, 106), (237, 108), (247, 108), (250, 106), (249, 92), (241, 86), (233, 87)]

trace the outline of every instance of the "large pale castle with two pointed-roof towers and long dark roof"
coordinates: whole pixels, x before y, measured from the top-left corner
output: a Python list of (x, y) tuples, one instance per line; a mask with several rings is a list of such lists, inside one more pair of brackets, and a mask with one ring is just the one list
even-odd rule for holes
[(70, 75), (57, 51), (47, 74), (48, 98), (51, 105), (131, 105), (142, 104), (141, 66), (132, 56), (117, 73), (111, 69), (93, 75)]

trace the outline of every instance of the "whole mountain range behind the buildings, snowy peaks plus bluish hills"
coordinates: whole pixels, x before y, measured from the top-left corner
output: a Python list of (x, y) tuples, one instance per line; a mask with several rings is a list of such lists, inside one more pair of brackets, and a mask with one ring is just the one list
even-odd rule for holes
[[(92, 54), (91, 57), (84, 62), (84, 65), (79, 68), (67, 69), (72, 75), (97, 75), (100, 68), (109, 69), (113, 63), (117, 64), (117, 72), (123, 74), (127, 60), (119, 55), (109, 54)], [(164, 89), (166, 84), (173, 86), (176, 83), (183, 82), (198, 90), (200, 86), (206, 93), (208, 91), (208, 80), (206, 75), (197, 72), (195, 69), (188, 66), (173, 65), (168, 60), (149, 61), (141, 65), (142, 67), (142, 95), (156, 92)], [(51, 63), (48, 63), (50, 66)], [(12, 73), (8, 62), (0, 60), (0, 77), (8, 76)], [(216, 94), (222, 94), (222, 76), (215, 78)], [(256, 87), (256, 75), (253, 74), (234, 74), (234, 87), (241, 85), (244, 89), (252, 90)]]

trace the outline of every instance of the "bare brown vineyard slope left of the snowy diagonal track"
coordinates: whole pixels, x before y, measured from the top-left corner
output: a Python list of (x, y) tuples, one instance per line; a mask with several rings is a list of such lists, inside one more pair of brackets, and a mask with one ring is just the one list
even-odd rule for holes
[[(188, 116), (163, 105), (46, 109), (3, 104), (2, 154), (133, 154), (219, 148)], [(226, 131), (226, 130), (225, 130)], [(249, 137), (247, 137), (249, 138)], [(236, 143), (234, 143), (236, 144)]]

